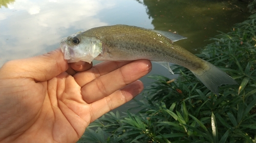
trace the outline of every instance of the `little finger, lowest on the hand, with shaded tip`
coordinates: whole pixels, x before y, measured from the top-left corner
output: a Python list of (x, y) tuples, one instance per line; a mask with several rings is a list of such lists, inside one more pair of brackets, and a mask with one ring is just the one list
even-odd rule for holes
[(91, 122), (101, 117), (104, 113), (121, 106), (122, 104), (132, 100), (143, 90), (143, 83), (137, 80), (121, 90), (117, 90), (110, 96), (104, 97), (101, 100), (91, 104)]

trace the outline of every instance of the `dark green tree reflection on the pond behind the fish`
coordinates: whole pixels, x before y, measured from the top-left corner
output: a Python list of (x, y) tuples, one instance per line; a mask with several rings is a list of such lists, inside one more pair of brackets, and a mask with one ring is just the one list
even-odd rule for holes
[(240, 1), (139, 1), (147, 8), (156, 30), (177, 32), (187, 37), (176, 42), (190, 52), (197, 53), (209, 37), (217, 31), (228, 32), (235, 23), (245, 20), (247, 3)]

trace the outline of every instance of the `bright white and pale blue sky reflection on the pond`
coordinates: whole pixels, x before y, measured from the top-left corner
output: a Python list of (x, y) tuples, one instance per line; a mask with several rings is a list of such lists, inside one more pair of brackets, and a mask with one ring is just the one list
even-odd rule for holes
[(0, 9), (0, 66), (53, 50), (63, 37), (91, 27), (123, 23), (153, 28), (136, 1), (18, 0), (7, 6)]

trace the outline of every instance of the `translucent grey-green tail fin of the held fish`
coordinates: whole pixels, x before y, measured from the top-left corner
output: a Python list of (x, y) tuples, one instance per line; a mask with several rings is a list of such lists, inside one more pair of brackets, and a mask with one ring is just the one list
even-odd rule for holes
[(198, 70), (193, 74), (213, 93), (219, 95), (218, 86), (222, 84), (238, 84), (236, 80), (231, 78), (222, 70), (207, 61), (204, 61), (209, 68), (207, 70)]

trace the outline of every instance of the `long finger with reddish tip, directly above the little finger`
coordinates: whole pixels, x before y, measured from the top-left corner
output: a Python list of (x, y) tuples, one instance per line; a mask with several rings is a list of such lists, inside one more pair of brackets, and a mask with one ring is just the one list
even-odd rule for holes
[[(115, 91), (125, 87), (151, 71), (150, 61), (133, 61), (121, 68), (118, 68), (108, 74), (95, 78), (92, 82), (82, 87), (81, 94), (84, 101), (92, 103)], [(99, 71), (100, 73), (100, 71)]]

